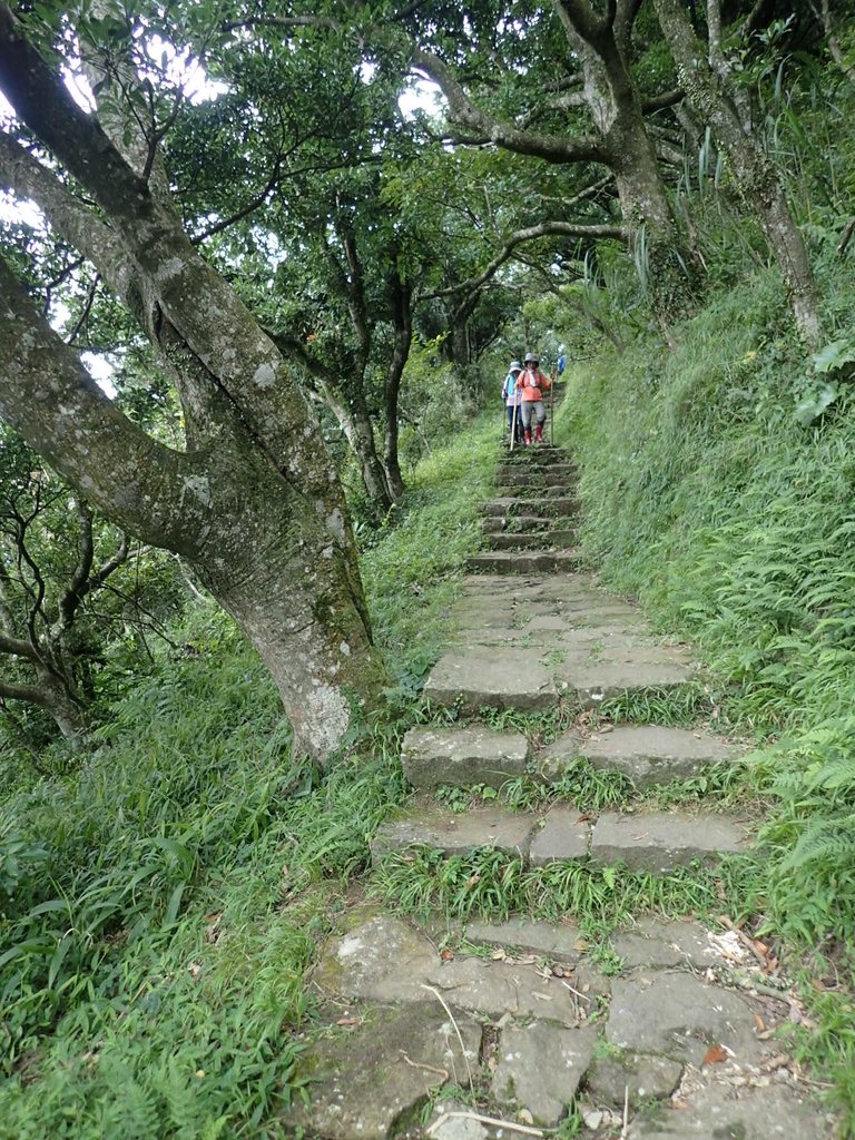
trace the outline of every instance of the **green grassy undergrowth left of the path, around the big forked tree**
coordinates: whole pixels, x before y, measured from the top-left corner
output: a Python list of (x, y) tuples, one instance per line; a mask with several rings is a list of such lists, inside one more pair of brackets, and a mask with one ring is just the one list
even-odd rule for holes
[(299, 1094), (304, 967), (404, 793), (398, 735), (495, 445), (484, 426), (434, 451), (364, 552), (396, 687), (328, 776), (292, 760), (263, 668), (201, 608), (80, 767), (57, 752), (52, 777), (7, 796), (0, 1137), (258, 1137)]

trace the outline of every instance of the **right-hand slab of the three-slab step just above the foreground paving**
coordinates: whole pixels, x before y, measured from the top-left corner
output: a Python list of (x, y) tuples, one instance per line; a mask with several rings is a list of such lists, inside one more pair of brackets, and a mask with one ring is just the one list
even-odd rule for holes
[(591, 839), (592, 858), (622, 861), (632, 871), (662, 874), (695, 858), (709, 858), (747, 846), (744, 829), (733, 820), (710, 813), (606, 812)]

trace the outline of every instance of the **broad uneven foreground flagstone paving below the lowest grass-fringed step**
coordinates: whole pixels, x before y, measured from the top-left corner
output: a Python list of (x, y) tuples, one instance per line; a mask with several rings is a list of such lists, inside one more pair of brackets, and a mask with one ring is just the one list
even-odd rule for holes
[[(698, 923), (642, 920), (636, 936), (665, 954), (643, 969), (625, 959), (629, 970), (613, 978), (563, 923), (469, 923), (467, 943), (490, 946), (489, 958), (440, 952), (445, 930), (365, 904), (336, 925), (312, 975), (321, 1016), (300, 1035), (294, 1080), (304, 1092), (282, 1110), (284, 1135), (392, 1140), (418, 1119), (406, 1135), (487, 1140), (519, 1134), (518, 1119), (552, 1134), (569, 1105), (586, 1135), (620, 1130), (627, 1140), (840, 1132), (790, 1075), (787, 1034), (758, 1036), (760, 1025), (784, 1028), (785, 996), (758, 1007), (756, 994), (718, 984), (732, 952)], [(443, 1084), (477, 1090), (495, 1123), (482, 1125), (451, 1089), (429, 1122), (425, 1100)]]

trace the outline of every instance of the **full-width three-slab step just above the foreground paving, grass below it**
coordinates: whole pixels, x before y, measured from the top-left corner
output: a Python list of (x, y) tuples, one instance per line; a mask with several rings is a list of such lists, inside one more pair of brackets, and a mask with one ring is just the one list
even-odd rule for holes
[(749, 844), (750, 832), (740, 820), (711, 812), (605, 812), (592, 823), (564, 803), (545, 813), (512, 812), (500, 804), (459, 813), (416, 801), (380, 828), (372, 853), (380, 860), (420, 846), (448, 857), (491, 847), (518, 856), (524, 866), (589, 857), (593, 863), (666, 874), (695, 860), (746, 850)]

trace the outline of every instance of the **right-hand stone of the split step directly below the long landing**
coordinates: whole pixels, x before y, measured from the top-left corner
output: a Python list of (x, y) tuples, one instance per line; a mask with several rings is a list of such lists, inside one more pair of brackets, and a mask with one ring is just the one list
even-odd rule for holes
[(743, 749), (719, 736), (658, 725), (605, 725), (587, 738), (571, 728), (538, 757), (538, 771), (557, 781), (573, 760), (620, 772), (638, 788), (691, 780), (711, 764), (735, 760)]

